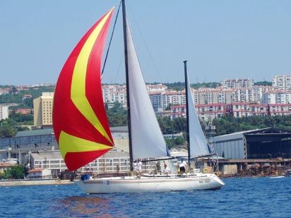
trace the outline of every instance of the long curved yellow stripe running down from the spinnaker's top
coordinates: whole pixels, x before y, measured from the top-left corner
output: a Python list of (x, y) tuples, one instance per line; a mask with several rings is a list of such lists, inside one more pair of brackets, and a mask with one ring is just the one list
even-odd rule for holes
[(92, 107), (90, 106), (90, 103), (88, 102), (88, 99), (85, 96), (85, 76), (91, 49), (95, 43), (95, 40), (100, 34), (100, 31), (105, 25), (105, 22), (108, 19), (111, 11), (109, 11), (107, 15), (101, 20), (99, 25), (97, 25), (95, 30), (93, 30), (91, 35), (88, 37), (88, 40), (85, 42), (76, 61), (71, 83), (71, 100), (73, 101), (73, 104), (75, 104), (75, 106), (78, 108), (81, 114), (83, 114), (83, 116), (85, 116), (85, 118), (88, 119), (88, 121), (90, 121), (90, 123), (93, 124), (97, 131), (99, 131), (103, 136), (105, 136), (105, 138), (107, 138), (107, 140), (109, 140), (110, 143), (112, 143), (112, 140), (107, 135), (99, 119), (97, 119), (96, 114), (94, 113)]

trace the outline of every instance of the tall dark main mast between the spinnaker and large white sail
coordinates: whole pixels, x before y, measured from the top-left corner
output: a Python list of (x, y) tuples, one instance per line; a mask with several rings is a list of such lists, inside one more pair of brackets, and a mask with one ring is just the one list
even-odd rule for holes
[(130, 169), (133, 171), (133, 154), (132, 154), (132, 144), (131, 144), (131, 107), (129, 102), (129, 63), (127, 61), (127, 38), (126, 38), (126, 10), (125, 10), (125, 0), (122, 1), (122, 23), (124, 29), (124, 62), (125, 62), (125, 76), (126, 76), (126, 97), (127, 97), (127, 123), (129, 126), (129, 162)]

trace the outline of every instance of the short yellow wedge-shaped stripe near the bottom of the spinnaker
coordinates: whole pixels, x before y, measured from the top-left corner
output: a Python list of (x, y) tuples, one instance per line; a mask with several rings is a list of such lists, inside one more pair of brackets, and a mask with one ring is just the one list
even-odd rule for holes
[(59, 150), (64, 158), (67, 152), (92, 152), (96, 150), (111, 149), (111, 146), (94, 143), (83, 138), (78, 138), (73, 135), (61, 131), (59, 135)]

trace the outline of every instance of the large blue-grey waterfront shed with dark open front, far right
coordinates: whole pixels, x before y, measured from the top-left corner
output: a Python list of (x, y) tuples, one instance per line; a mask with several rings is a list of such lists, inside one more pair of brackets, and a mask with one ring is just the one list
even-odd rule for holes
[(220, 135), (213, 143), (218, 156), (226, 159), (291, 158), (291, 132), (276, 128)]

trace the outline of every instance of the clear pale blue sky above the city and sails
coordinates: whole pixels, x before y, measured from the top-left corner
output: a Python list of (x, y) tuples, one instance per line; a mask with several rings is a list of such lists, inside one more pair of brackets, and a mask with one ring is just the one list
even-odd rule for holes
[[(0, 85), (57, 83), (81, 37), (119, 1), (0, 0)], [(127, 0), (148, 83), (191, 83), (291, 74), (291, 1)], [(121, 14), (103, 83), (124, 83)], [(107, 39), (107, 44), (109, 37)], [(107, 49), (107, 48), (105, 48)]]

